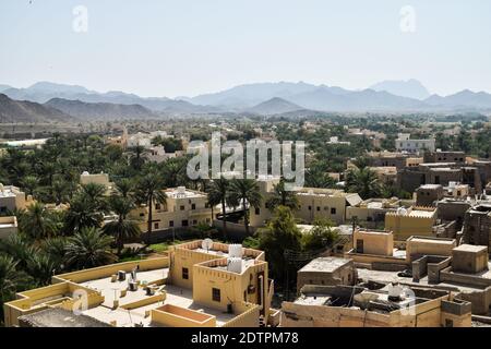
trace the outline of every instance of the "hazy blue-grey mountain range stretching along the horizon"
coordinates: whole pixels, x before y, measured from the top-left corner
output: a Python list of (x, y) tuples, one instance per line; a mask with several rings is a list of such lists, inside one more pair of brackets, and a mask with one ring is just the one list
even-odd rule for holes
[[(464, 89), (450, 96), (430, 95), (416, 80), (384, 81), (367, 89), (351, 91), (338, 86), (313, 85), (304, 82), (254, 83), (195, 97), (140, 97), (124, 92), (98, 93), (79, 85), (39, 82), (26, 88), (0, 85), (0, 93), (12, 100), (37, 103), (45, 109), (27, 104), (26, 110), (40, 112), (40, 119), (52, 112), (53, 120), (76, 119), (147, 119), (172, 115), (246, 112), (263, 116), (298, 110), (310, 112), (424, 112), (424, 111), (490, 111), (491, 94)], [(12, 101), (13, 103), (13, 101)], [(12, 106), (12, 103), (10, 105)], [(3, 106), (0, 106), (3, 108)], [(53, 111), (57, 110), (57, 111)], [(8, 118), (14, 109), (0, 110)], [(27, 112), (27, 111), (25, 111)], [(23, 120), (28, 112), (22, 113)], [(7, 118), (7, 119), (5, 119)], [(19, 117), (21, 120), (21, 117)], [(33, 120), (37, 120), (33, 116)]]

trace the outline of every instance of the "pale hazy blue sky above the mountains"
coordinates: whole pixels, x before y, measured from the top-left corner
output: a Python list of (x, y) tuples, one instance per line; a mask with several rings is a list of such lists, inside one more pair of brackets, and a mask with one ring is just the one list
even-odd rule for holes
[(177, 97), (407, 79), (491, 93), (491, 1), (0, 0), (0, 84), (14, 87)]

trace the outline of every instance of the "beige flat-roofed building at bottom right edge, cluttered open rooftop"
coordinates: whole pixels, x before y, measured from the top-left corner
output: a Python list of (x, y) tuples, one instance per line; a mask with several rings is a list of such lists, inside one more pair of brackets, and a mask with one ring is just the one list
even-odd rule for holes
[(448, 291), (307, 285), (282, 303), (282, 327), (470, 327), (471, 304)]

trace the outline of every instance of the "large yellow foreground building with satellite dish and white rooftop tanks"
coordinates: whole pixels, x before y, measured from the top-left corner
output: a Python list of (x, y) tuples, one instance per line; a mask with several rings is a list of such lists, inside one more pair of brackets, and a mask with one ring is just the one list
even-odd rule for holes
[(168, 256), (53, 276), (5, 303), (4, 323), (55, 326), (43, 317), (59, 320), (61, 309), (84, 315), (72, 318), (80, 326), (92, 318), (94, 326), (258, 327), (279, 321), (273, 288), (264, 252), (197, 240)]

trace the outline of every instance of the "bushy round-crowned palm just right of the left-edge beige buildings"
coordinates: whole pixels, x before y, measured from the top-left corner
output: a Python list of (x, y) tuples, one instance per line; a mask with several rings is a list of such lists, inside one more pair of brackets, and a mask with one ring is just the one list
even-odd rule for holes
[(19, 217), (21, 231), (34, 240), (46, 239), (57, 233), (57, 225), (45, 205), (36, 202)]

